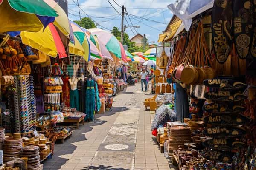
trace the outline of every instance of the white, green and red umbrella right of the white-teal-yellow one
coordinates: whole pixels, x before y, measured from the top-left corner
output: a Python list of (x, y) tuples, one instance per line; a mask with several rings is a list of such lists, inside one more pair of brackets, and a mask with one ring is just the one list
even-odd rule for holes
[[(98, 38), (98, 41), (101, 41), (102, 45), (104, 45), (109, 52), (126, 62), (125, 49), (123, 48), (121, 42), (119, 42), (119, 40), (117, 40), (113, 34), (98, 28), (88, 29), (88, 31), (90, 31), (92, 34), (95, 34)], [(102, 48), (100, 43), (99, 45), (100, 48)]]

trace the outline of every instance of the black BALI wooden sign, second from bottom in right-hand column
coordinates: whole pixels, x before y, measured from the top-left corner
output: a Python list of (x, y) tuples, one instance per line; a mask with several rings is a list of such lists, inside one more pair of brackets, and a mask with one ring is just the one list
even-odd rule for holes
[(246, 147), (246, 144), (233, 139), (209, 139), (203, 142), (204, 147), (215, 150), (233, 150)]

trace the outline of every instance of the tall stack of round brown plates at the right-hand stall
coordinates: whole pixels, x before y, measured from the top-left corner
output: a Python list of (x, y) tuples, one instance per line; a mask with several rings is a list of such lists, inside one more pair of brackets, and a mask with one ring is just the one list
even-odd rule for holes
[(189, 127), (170, 127), (169, 149), (177, 149), (185, 143), (191, 142), (191, 131)]

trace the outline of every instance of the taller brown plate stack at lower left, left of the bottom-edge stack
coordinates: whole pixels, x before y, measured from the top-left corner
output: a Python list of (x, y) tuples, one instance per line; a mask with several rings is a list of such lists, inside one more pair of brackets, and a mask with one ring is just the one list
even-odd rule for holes
[(8, 137), (4, 139), (3, 143), (3, 161), (11, 161), (20, 157), (20, 151), (22, 148), (22, 139), (13, 139)]

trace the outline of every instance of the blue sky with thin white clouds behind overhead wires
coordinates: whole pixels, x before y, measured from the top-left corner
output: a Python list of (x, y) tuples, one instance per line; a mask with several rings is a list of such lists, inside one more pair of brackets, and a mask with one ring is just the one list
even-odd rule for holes
[[(73, 1), (76, 2), (77, 0), (68, 0), (68, 15), (70, 20), (79, 20), (78, 7)], [(140, 26), (140, 28), (133, 29), (134, 33), (130, 28), (125, 30), (130, 38), (133, 37), (137, 31), (142, 35), (145, 34), (149, 42), (157, 42), (158, 35), (166, 28), (172, 18), (172, 13), (167, 8), (167, 5), (169, 5), (172, 0), (114, 0), (117, 4), (113, 0), (109, 1), (120, 14), (122, 13), (122, 8), (117, 4), (120, 6), (124, 5), (130, 16), (129, 18), (128, 15), (126, 15), (130, 26), (131, 23), (134, 26)], [(81, 11), (82, 17), (87, 17), (86, 14), (88, 14), (96, 23), (99, 23), (99, 25), (105, 28), (112, 29), (113, 26), (116, 26), (121, 29), (121, 16), (111, 7), (108, 0), (79, 0), (79, 5), (83, 9), (83, 11)], [(84, 14), (84, 12), (86, 14)], [(154, 20), (158, 23), (144, 20), (140, 17)], [(127, 21), (124, 20), (126, 26), (128, 26)], [(102, 28), (101, 26), (97, 26), (97, 28)]]

